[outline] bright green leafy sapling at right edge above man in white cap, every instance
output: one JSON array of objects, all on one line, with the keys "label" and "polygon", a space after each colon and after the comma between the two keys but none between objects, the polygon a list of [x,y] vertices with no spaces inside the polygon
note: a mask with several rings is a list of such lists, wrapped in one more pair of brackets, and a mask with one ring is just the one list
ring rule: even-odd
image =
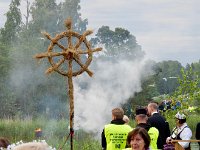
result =
[{"label": "bright green leafy sapling at right edge above man in white cap", "polygon": [[182,68],[181,77],[178,79],[178,81],[180,85],[170,97],[172,100],[172,109],[174,111],[169,110],[168,116],[174,115],[177,111],[181,111],[188,115],[191,111],[191,108],[196,107],[199,109],[199,76],[193,71],[192,67],[190,67],[189,70],[184,70]]}]

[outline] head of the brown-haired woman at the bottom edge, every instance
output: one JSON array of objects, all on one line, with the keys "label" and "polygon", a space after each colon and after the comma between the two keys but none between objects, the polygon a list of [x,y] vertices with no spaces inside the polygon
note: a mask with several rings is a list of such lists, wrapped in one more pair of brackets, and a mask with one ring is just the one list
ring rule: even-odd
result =
[{"label": "head of the brown-haired woman at the bottom edge", "polygon": [[150,137],[144,128],[135,128],[129,132],[127,143],[134,150],[148,149],[150,144]]}]

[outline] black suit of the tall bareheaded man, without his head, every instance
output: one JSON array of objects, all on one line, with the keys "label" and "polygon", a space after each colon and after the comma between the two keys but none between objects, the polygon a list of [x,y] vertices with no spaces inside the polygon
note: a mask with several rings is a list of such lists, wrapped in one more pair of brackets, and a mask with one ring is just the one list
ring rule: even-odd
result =
[{"label": "black suit of the tall bareheaded man, without his head", "polygon": [[149,117],[147,122],[152,127],[158,129],[159,131],[158,142],[157,142],[158,149],[163,149],[163,145],[166,144],[167,137],[170,136],[169,123],[159,113],[154,113],[152,116]]}]

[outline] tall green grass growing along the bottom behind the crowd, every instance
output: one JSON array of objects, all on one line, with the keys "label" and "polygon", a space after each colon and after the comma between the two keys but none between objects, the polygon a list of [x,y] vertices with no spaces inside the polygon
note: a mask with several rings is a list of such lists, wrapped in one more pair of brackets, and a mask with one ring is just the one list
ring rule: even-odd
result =
[{"label": "tall green grass growing along the bottom behind the crowd", "polygon": [[[174,118],[168,120],[170,128],[175,126]],[[196,124],[200,122],[199,115],[190,116],[187,119],[188,126],[193,132],[192,139],[195,139]],[[135,127],[135,121],[131,120],[130,125]],[[0,120],[0,135],[6,137],[11,143],[18,141],[30,142],[36,139],[35,129],[41,128],[43,136],[41,139],[59,149],[63,146],[63,149],[70,149],[70,138],[66,141],[66,137],[69,135],[68,122],[66,120],[47,120],[45,118],[38,118],[36,120],[26,119],[3,119]],[[74,135],[74,150],[99,150],[101,144],[99,140],[95,139],[92,134],[88,134],[83,130],[75,131]]]}]

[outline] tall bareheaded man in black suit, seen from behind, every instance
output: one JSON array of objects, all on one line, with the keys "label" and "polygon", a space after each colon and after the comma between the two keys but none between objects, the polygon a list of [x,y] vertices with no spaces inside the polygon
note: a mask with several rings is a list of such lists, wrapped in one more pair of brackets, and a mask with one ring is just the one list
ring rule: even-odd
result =
[{"label": "tall bareheaded man in black suit, seen from behind", "polygon": [[163,149],[163,146],[166,144],[167,137],[170,136],[169,123],[166,119],[160,115],[158,112],[158,104],[156,102],[150,102],[147,106],[149,118],[147,123],[151,125],[151,127],[155,127],[159,131],[157,146],[158,149]]}]

